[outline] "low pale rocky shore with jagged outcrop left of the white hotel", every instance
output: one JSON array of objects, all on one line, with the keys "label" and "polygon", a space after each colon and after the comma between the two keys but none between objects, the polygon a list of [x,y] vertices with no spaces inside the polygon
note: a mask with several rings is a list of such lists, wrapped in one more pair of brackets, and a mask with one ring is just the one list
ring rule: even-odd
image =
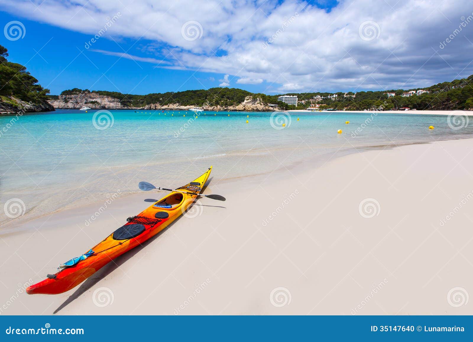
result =
[{"label": "low pale rocky shore with jagged outcrop left of the white hotel", "polygon": [[[151,109],[151,110],[189,110],[195,106],[192,105],[179,105],[179,104],[172,104],[172,105],[160,105],[159,103],[155,103],[152,105],[147,105],[143,109]],[[247,111],[247,112],[273,112],[278,111],[279,109],[271,107],[269,105],[265,105],[260,97],[254,96],[246,96],[245,101],[240,103],[239,105],[228,105],[228,106],[220,106],[220,105],[203,105],[201,109],[208,110],[208,111],[217,111],[217,110],[231,110],[231,111]]]}]

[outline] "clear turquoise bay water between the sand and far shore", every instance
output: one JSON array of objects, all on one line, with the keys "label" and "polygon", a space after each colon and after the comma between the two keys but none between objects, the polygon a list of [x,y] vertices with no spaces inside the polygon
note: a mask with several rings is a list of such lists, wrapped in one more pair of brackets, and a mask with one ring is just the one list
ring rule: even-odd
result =
[{"label": "clear turquoise bay water between the sand and far shore", "polygon": [[[177,187],[210,165],[214,179],[220,180],[293,167],[335,151],[473,136],[473,120],[452,129],[445,115],[324,112],[272,117],[224,111],[193,119],[193,112],[184,117],[184,111],[110,111],[101,113],[102,118],[100,113],[94,118],[95,113],[24,114],[13,123],[15,116],[0,117],[0,200],[2,205],[11,198],[25,203],[26,213],[16,223],[117,191],[138,192],[141,180]],[[343,133],[337,134],[338,129]],[[8,220],[1,215],[0,223]]]}]

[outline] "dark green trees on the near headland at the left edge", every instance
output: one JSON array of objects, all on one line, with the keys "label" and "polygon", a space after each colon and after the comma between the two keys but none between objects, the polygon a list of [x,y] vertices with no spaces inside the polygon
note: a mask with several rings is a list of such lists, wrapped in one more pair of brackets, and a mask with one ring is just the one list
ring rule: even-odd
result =
[{"label": "dark green trees on the near headland at the left edge", "polygon": [[0,45],[0,96],[2,102],[16,105],[10,96],[19,100],[43,104],[48,96],[49,89],[44,89],[38,80],[26,71],[26,67],[18,63],[7,61],[8,51]]}]

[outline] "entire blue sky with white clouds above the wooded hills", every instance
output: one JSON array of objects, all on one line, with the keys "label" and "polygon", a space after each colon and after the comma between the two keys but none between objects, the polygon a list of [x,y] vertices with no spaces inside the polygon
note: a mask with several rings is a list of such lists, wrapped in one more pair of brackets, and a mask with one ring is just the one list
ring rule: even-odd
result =
[{"label": "entire blue sky with white clouds above the wooded hills", "polygon": [[427,87],[473,74],[471,0],[1,0],[0,44],[51,94]]}]

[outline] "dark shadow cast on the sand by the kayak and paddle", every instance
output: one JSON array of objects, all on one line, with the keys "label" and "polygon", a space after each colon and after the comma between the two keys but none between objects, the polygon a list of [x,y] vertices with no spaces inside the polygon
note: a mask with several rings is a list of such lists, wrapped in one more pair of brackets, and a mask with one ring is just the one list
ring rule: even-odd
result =
[{"label": "dark shadow cast on the sand by the kayak and paddle", "polygon": [[[210,179],[207,181],[207,183],[202,188],[205,188],[207,186],[207,184],[209,184],[209,182],[210,182]],[[153,200],[153,199],[146,199],[145,202],[157,202],[157,201]],[[203,204],[194,204],[194,205],[203,205]],[[207,206],[207,205],[205,205],[205,206]],[[221,207],[221,206],[217,206],[217,205],[215,205],[215,206],[212,205],[212,207],[225,208],[226,209],[226,207]],[[53,314],[56,314],[59,311],[61,311],[64,307],[67,307],[75,299],[79,298],[82,294],[84,294],[86,291],[88,291],[94,285],[96,285],[96,283],[98,283],[99,281],[104,279],[107,275],[114,272],[117,268],[119,268],[121,265],[126,263],[128,261],[128,259],[133,257],[135,254],[140,252],[144,247],[148,246],[148,244],[152,243],[155,239],[157,239],[162,234],[164,234],[166,232],[166,230],[171,228],[179,219],[180,218],[176,219],[169,226],[167,226],[166,228],[161,230],[154,237],[151,237],[148,240],[146,240],[140,246],[136,246],[135,248],[131,249],[130,251],[126,252],[125,254],[122,254],[119,257],[117,257],[116,259],[114,259],[111,263],[107,263],[104,267],[102,267],[100,270],[98,270],[93,275],[91,275],[89,278],[87,278],[87,280],[84,281],[79,286],[79,289],[77,289],[73,294],[71,294],[69,296],[69,298],[67,298],[64,303],[62,303],[56,310],[54,310]]]}]

